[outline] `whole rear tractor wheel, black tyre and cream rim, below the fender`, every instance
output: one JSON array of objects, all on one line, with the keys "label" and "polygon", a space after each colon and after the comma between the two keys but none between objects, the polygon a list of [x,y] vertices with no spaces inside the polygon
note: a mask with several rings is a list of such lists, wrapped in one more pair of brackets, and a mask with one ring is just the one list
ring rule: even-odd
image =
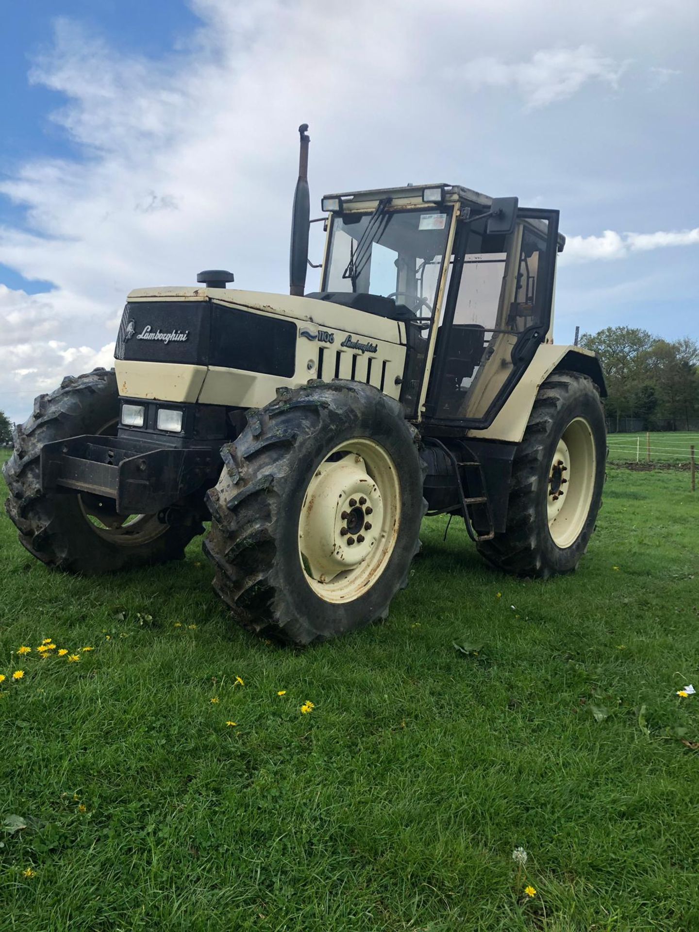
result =
[{"label": "whole rear tractor wheel, black tyre and cream rim, below the fender", "polygon": [[607,433],[592,379],[556,372],[541,386],[514,457],[507,528],[476,546],[517,576],[576,569],[595,529]]}]

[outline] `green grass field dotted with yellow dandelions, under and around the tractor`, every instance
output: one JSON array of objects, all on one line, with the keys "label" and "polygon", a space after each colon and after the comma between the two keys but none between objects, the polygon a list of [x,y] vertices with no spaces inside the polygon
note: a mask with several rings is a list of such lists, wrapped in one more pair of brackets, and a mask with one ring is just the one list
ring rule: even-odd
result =
[{"label": "green grass field dotted with yellow dandelions, under and around the tractor", "polygon": [[[0,832],[0,929],[699,928],[688,489],[610,469],[581,569],[547,583],[433,519],[388,622],[308,651],[229,623],[199,541],[82,580],[3,515],[0,824],[26,828]],[[94,651],[41,660],[46,637]]]}]

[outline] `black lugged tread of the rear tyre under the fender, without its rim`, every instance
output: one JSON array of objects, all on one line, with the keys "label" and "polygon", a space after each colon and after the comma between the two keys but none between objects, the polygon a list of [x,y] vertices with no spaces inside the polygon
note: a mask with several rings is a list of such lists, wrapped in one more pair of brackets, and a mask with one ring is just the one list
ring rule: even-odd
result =
[{"label": "black lugged tread of the rear tyre under the fender, without its rim", "polygon": [[548,534],[548,527],[541,527],[541,521],[537,517],[537,505],[541,477],[548,473],[549,468],[549,463],[543,461],[547,456],[545,440],[551,435],[556,416],[569,402],[573,392],[590,390],[595,392],[601,411],[599,389],[587,376],[576,372],[555,372],[541,385],[524,437],[514,456],[507,528],[504,533],[496,534],[491,541],[476,544],[478,552],[497,569],[516,576],[546,579],[556,572],[575,569],[578,559],[587,549],[596,514],[602,503],[601,487],[596,497],[593,497],[590,507],[588,522],[591,519],[592,527],[576,554],[575,565],[569,569],[552,566],[551,560],[547,559],[545,548],[542,547],[542,535]]}]

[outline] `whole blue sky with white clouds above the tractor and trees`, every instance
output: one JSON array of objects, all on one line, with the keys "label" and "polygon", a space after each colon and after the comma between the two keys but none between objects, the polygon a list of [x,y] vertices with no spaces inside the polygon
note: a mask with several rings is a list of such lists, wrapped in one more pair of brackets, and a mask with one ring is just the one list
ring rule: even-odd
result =
[{"label": "whole blue sky with white clouds above the tractor and trees", "polygon": [[301,122],[311,215],[323,194],[408,182],[557,208],[556,342],[576,325],[699,339],[695,0],[0,0],[0,14],[12,420],[111,364],[132,288],[219,267],[288,291]]}]

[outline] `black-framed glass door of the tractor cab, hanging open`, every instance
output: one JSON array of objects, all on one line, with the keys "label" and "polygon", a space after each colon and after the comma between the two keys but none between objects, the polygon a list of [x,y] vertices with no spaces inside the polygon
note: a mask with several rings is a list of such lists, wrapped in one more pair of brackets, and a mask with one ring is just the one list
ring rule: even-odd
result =
[{"label": "black-framed glass door of the tractor cab, hanging open", "polygon": [[456,241],[425,412],[469,428],[492,423],[549,335],[558,212],[521,208],[507,240],[477,236]]}]

